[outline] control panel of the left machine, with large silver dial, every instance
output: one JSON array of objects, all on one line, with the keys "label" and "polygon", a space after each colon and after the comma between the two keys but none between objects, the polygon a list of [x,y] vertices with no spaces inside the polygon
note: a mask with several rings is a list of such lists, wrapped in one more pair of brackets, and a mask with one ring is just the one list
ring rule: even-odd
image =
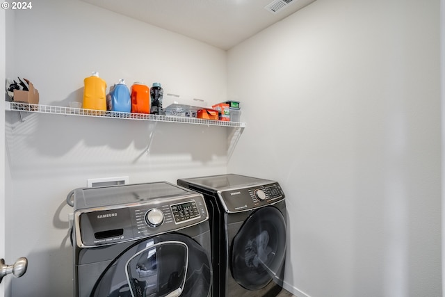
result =
[{"label": "control panel of the left machine, with large silver dial", "polygon": [[95,247],[180,230],[209,219],[200,194],[136,204],[80,209],[74,214],[76,243]]}]

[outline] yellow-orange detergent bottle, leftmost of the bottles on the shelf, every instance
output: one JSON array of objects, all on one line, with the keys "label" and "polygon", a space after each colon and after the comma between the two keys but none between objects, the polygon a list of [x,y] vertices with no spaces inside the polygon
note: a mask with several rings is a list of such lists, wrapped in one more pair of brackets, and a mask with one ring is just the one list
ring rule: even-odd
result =
[{"label": "yellow-orange detergent bottle, leftmost of the bottles on the shelf", "polygon": [[83,80],[83,108],[106,111],[106,82],[99,73],[92,72],[91,77]]}]

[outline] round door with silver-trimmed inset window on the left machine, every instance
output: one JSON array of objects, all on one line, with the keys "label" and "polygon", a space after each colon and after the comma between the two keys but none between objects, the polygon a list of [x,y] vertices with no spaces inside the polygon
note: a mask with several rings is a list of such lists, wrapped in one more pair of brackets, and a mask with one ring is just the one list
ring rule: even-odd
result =
[{"label": "round door with silver-trimmed inset window on the left machine", "polygon": [[187,236],[163,234],[123,251],[91,296],[207,297],[210,289],[211,264],[204,248]]}]

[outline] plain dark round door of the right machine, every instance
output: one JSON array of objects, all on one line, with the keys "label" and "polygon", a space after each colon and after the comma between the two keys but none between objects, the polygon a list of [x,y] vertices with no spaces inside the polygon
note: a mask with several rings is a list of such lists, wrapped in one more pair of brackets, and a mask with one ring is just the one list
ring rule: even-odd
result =
[{"label": "plain dark round door of the right machine", "polygon": [[258,290],[275,278],[286,254],[286,221],[275,207],[255,211],[232,244],[232,276],[249,290]]}]

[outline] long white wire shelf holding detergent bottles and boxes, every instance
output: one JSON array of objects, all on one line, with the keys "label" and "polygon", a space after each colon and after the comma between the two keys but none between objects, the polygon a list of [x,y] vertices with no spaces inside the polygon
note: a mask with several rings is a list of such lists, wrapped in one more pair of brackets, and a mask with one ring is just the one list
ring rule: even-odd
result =
[{"label": "long white wire shelf holding detergent bottles and boxes", "polygon": [[6,111],[26,111],[30,113],[51,113],[56,115],[76,115],[96,118],[116,118],[127,120],[149,120],[155,122],[179,122],[184,124],[210,125],[222,127],[244,128],[245,122],[225,122],[220,120],[204,120],[172,115],[150,115],[146,113],[121,113],[118,111],[96,111],[92,109],[76,109],[74,107],[29,104],[23,102],[5,102]]}]

